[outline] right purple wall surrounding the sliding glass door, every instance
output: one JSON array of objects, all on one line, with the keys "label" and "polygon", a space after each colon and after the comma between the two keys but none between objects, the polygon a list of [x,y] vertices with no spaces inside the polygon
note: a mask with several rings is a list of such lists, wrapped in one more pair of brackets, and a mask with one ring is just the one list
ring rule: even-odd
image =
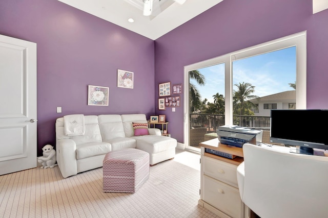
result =
[{"label": "right purple wall surrounding the sliding glass door", "polygon": [[[307,105],[328,109],[327,21],[328,10],[312,14],[311,0],[223,1],[155,40],[155,85],[183,84],[186,65],[306,30]],[[183,142],[183,105],[156,113],[166,114],[172,137]]]}]

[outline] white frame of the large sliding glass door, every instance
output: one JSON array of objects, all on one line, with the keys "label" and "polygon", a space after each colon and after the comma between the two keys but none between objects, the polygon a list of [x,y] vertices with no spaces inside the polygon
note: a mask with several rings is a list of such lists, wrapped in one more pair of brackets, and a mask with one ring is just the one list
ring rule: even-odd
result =
[{"label": "white frame of the large sliding glass door", "polygon": [[[225,125],[233,125],[233,62],[242,60],[257,55],[262,55],[278,50],[287,49],[295,46],[296,51],[296,104],[295,109],[306,109],[306,31],[265,42],[262,44],[254,45],[246,49],[242,49],[236,52],[225,54],[216,58],[198,62],[185,66],[185,93],[184,93],[184,111],[185,111],[185,126],[184,126],[184,137],[185,143],[188,142],[189,138],[189,71],[200,69],[203,67],[209,67],[216,64],[224,63],[224,119]],[[248,81],[246,81],[248,82]],[[296,108],[297,106],[297,108]],[[265,106],[264,106],[265,107]],[[277,108],[277,104],[268,104],[269,107]],[[279,104],[280,107],[280,104]],[[286,105],[287,107],[287,105]],[[288,105],[288,107],[290,107]],[[292,107],[292,106],[291,106]],[[256,109],[256,108],[255,108]],[[269,111],[269,110],[266,110]],[[261,112],[261,110],[259,110]]]}]

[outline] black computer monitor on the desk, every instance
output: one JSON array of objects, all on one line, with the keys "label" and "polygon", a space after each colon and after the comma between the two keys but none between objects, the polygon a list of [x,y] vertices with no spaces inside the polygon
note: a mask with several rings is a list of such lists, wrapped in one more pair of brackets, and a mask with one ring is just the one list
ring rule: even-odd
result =
[{"label": "black computer monitor on the desk", "polygon": [[270,142],[299,146],[299,153],[328,149],[328,110],[271,110]]}]

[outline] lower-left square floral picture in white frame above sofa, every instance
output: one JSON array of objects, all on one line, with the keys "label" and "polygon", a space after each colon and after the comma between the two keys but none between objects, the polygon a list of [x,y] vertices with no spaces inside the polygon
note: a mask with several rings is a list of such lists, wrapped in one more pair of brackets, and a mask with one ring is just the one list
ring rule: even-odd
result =
[{"label": "lower-left square floral picture in white frame above sofa", "polygon": [[108,106],[109,88],[103,86],[88,86],[88,105]]}]

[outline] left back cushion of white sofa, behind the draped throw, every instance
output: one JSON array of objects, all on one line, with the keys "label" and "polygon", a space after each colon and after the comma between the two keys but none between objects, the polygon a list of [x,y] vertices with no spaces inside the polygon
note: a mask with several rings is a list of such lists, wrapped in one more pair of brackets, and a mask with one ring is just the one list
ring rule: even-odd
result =
[{"label": "left back cushion of white sofa, behind the draped throw", "polygon": [[88,142],[101,142],[100,129],[98,125],[98,116],[87,115],[85,116],[85,129],[84,135],[67,136],[64,134],[64,117],[56,119],[56,140],[70,138],[76,144],[84,144]]}]

